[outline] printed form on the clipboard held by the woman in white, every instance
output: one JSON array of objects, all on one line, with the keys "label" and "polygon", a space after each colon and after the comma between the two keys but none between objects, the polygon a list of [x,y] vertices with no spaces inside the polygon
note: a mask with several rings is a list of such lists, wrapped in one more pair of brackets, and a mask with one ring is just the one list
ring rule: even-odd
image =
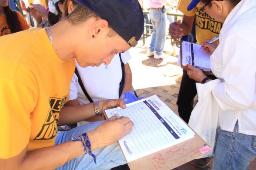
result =
[{"label": "printed form on the clipboard held by the woman in white", "polygon": [[197,66],[202,70],[210,71],[210,54],[200,48],[200,44],[183,41],[182,65],[186,66],[186,64],[190,64],[192,66]]}]

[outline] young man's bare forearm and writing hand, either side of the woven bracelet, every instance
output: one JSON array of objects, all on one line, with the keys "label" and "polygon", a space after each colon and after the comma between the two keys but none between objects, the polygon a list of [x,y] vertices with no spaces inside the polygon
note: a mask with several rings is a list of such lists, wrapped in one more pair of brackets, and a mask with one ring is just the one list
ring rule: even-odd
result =
[{"label": "young man's bare forearm and writing hand, either side of the woven bracelet", "polygon": [[[96,129],[87,132],[92,147],[91,150],[113,144],[129,133],[132,130],[132,126],[133,122],[130,121],[128,117],[121,117],[121,119],[116,120],[113,116],[107,119]],[[68,141],[60,145],[44,147],[32,151],[27,151],[26,146],[22,152],[16,156],[6,159],[0,158],[0,170],[55,169],[82,154],[84,154],[84,149],[80,141]],[[92,158],[88,156],[88,159]]]}]

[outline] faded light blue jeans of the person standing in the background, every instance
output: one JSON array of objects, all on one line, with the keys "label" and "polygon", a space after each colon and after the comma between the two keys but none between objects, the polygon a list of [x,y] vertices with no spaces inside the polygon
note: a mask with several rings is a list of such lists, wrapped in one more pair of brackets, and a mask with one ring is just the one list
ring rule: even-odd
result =
[{"label": "faded light blue jeans of the person standing in the background", "polygon": [[153,34],[150,43],[150,51],[162,55],[166,39],[166,13],[162,10],[149,10],[151,23],[153,24]]}]

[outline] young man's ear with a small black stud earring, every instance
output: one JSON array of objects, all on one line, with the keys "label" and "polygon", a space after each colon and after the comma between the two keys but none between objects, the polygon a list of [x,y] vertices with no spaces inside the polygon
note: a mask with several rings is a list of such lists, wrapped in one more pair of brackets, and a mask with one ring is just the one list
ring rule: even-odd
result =
[{"label": "young man's ear with a small black stud earring", "polygon": [[94,37],[106,32],[108,30],[109,30],[108,21],[100,19],[100,18],[96,19],[95,22],[92,23],[92,25],[90,27],[91,36],[94,35]]}]

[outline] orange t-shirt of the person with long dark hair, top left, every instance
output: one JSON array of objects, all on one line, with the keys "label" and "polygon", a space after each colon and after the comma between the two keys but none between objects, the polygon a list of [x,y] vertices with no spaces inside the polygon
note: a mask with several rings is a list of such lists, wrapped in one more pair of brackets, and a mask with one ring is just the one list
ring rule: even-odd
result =
[{"label": "orange t-shirt of the person with long dark hair, top left", "polygon": [[[18,16],[18,21],[20,22],[20,27],[21,30],[26,30],[30,28],[30,25],[28,25],[27,21],[25,20],[25,18],[20,14],[20,12],[15,11],[17,16]],[[10,34],[11,31],[9,29],[8,23],[6,21],[6,16],[0,16],[0,37],[2,35],[7,35]]]}]

